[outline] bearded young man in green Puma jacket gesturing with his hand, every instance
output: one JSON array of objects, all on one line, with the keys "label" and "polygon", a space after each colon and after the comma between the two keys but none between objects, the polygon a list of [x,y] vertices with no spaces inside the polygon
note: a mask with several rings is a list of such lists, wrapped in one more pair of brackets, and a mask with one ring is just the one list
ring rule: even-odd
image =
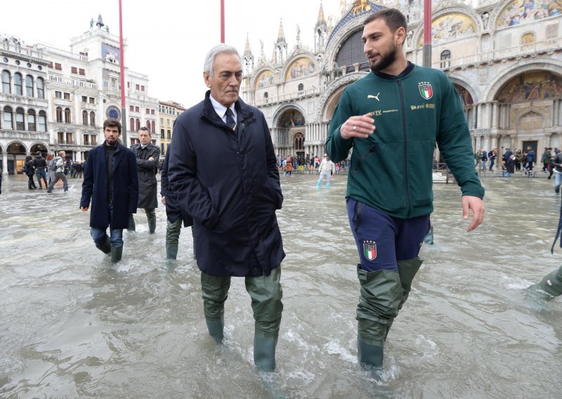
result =
[{"label": "bearded young man in green Puma jacket gesturing with his hand", "polygon": [[326,147],[334,162],[353,148],[346,198],[361,261],[358,360],[378,368],[388,330],[421,266],[417,255],[433,211],[435,144],[462,190],[463,218],[472,211],[466,231],[483,221],[484,189],[454,86],[443,72],[405,58],[404,15],[385,9],[363,26],[372,72],[342,93]]}]

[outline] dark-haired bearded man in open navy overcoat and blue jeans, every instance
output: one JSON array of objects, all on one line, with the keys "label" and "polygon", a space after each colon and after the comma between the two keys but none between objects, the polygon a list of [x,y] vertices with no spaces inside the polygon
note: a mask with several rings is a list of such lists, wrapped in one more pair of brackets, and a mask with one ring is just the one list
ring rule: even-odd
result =
[{"label": "dark-haired bearded man in open navy overcoat and blue jeans", "polygon": [[88,211],[91,200],[93,242],[100,251],[111,253],[115,263],[123,254],[123,229],[129,227],[129,214],[136,213],[138,176],[135,155],[119,143],[121,123],[107,119],[103,122],[103,134],[105,141],[90,151],[86,162],[80,209]]}]

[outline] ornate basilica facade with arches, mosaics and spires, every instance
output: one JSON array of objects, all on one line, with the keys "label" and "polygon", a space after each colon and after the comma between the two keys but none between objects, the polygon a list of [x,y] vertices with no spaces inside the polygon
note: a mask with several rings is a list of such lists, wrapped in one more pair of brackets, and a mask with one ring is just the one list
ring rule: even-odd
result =
[{"label": "ornate basilica facade with arches, mosaics and spires", "polygon": [[[278,155],[325,152],[342,91],[369,72],[361,34],[370,13],[407,15],[406,58],[422,64],[422,4],[342,0],[338,19],[325,18],[320,4],[313,48],[298,33],[289,50],[282,25],[270,58],[262,44],[254,59],[247,42],[242,97],[266,115]],[[562,148],[560,0],[433,1],[431,31],[431,67],[455,85],[475,150]]]}]

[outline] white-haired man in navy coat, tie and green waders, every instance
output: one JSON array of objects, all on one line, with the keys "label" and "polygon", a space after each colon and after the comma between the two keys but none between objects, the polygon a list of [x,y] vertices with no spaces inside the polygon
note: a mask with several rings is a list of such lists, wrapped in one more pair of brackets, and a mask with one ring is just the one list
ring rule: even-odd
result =
[{"label": "white-haired man in navy coat, tie and green waders", "polygon": [[240,55],[219,44],[204,62],[204,100],[174,124],[169,185],[195,224],[197,266],[209,334],[223,339],[230,277],[245,277],[254,310],[254,364],[275,369],[285,257],[275,211],[283,196],[263,114],[239,97]]}]

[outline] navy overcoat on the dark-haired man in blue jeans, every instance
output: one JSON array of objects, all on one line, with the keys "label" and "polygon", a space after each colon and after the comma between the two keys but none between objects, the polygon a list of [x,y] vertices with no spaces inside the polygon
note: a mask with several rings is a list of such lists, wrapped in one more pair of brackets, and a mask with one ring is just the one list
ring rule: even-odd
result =
[{"label": "navy overcoat on the dark-haired man in blue jeans", "polygon": [[121,229],[129,227],[129,214],[136,214],[138,203],[138,175],[135,154],[121,143],[113,155],[113,217],[111,225],[107,209],[107,159],[105,143],[90,151],[80,207],[89,207],[90,227]]}]

